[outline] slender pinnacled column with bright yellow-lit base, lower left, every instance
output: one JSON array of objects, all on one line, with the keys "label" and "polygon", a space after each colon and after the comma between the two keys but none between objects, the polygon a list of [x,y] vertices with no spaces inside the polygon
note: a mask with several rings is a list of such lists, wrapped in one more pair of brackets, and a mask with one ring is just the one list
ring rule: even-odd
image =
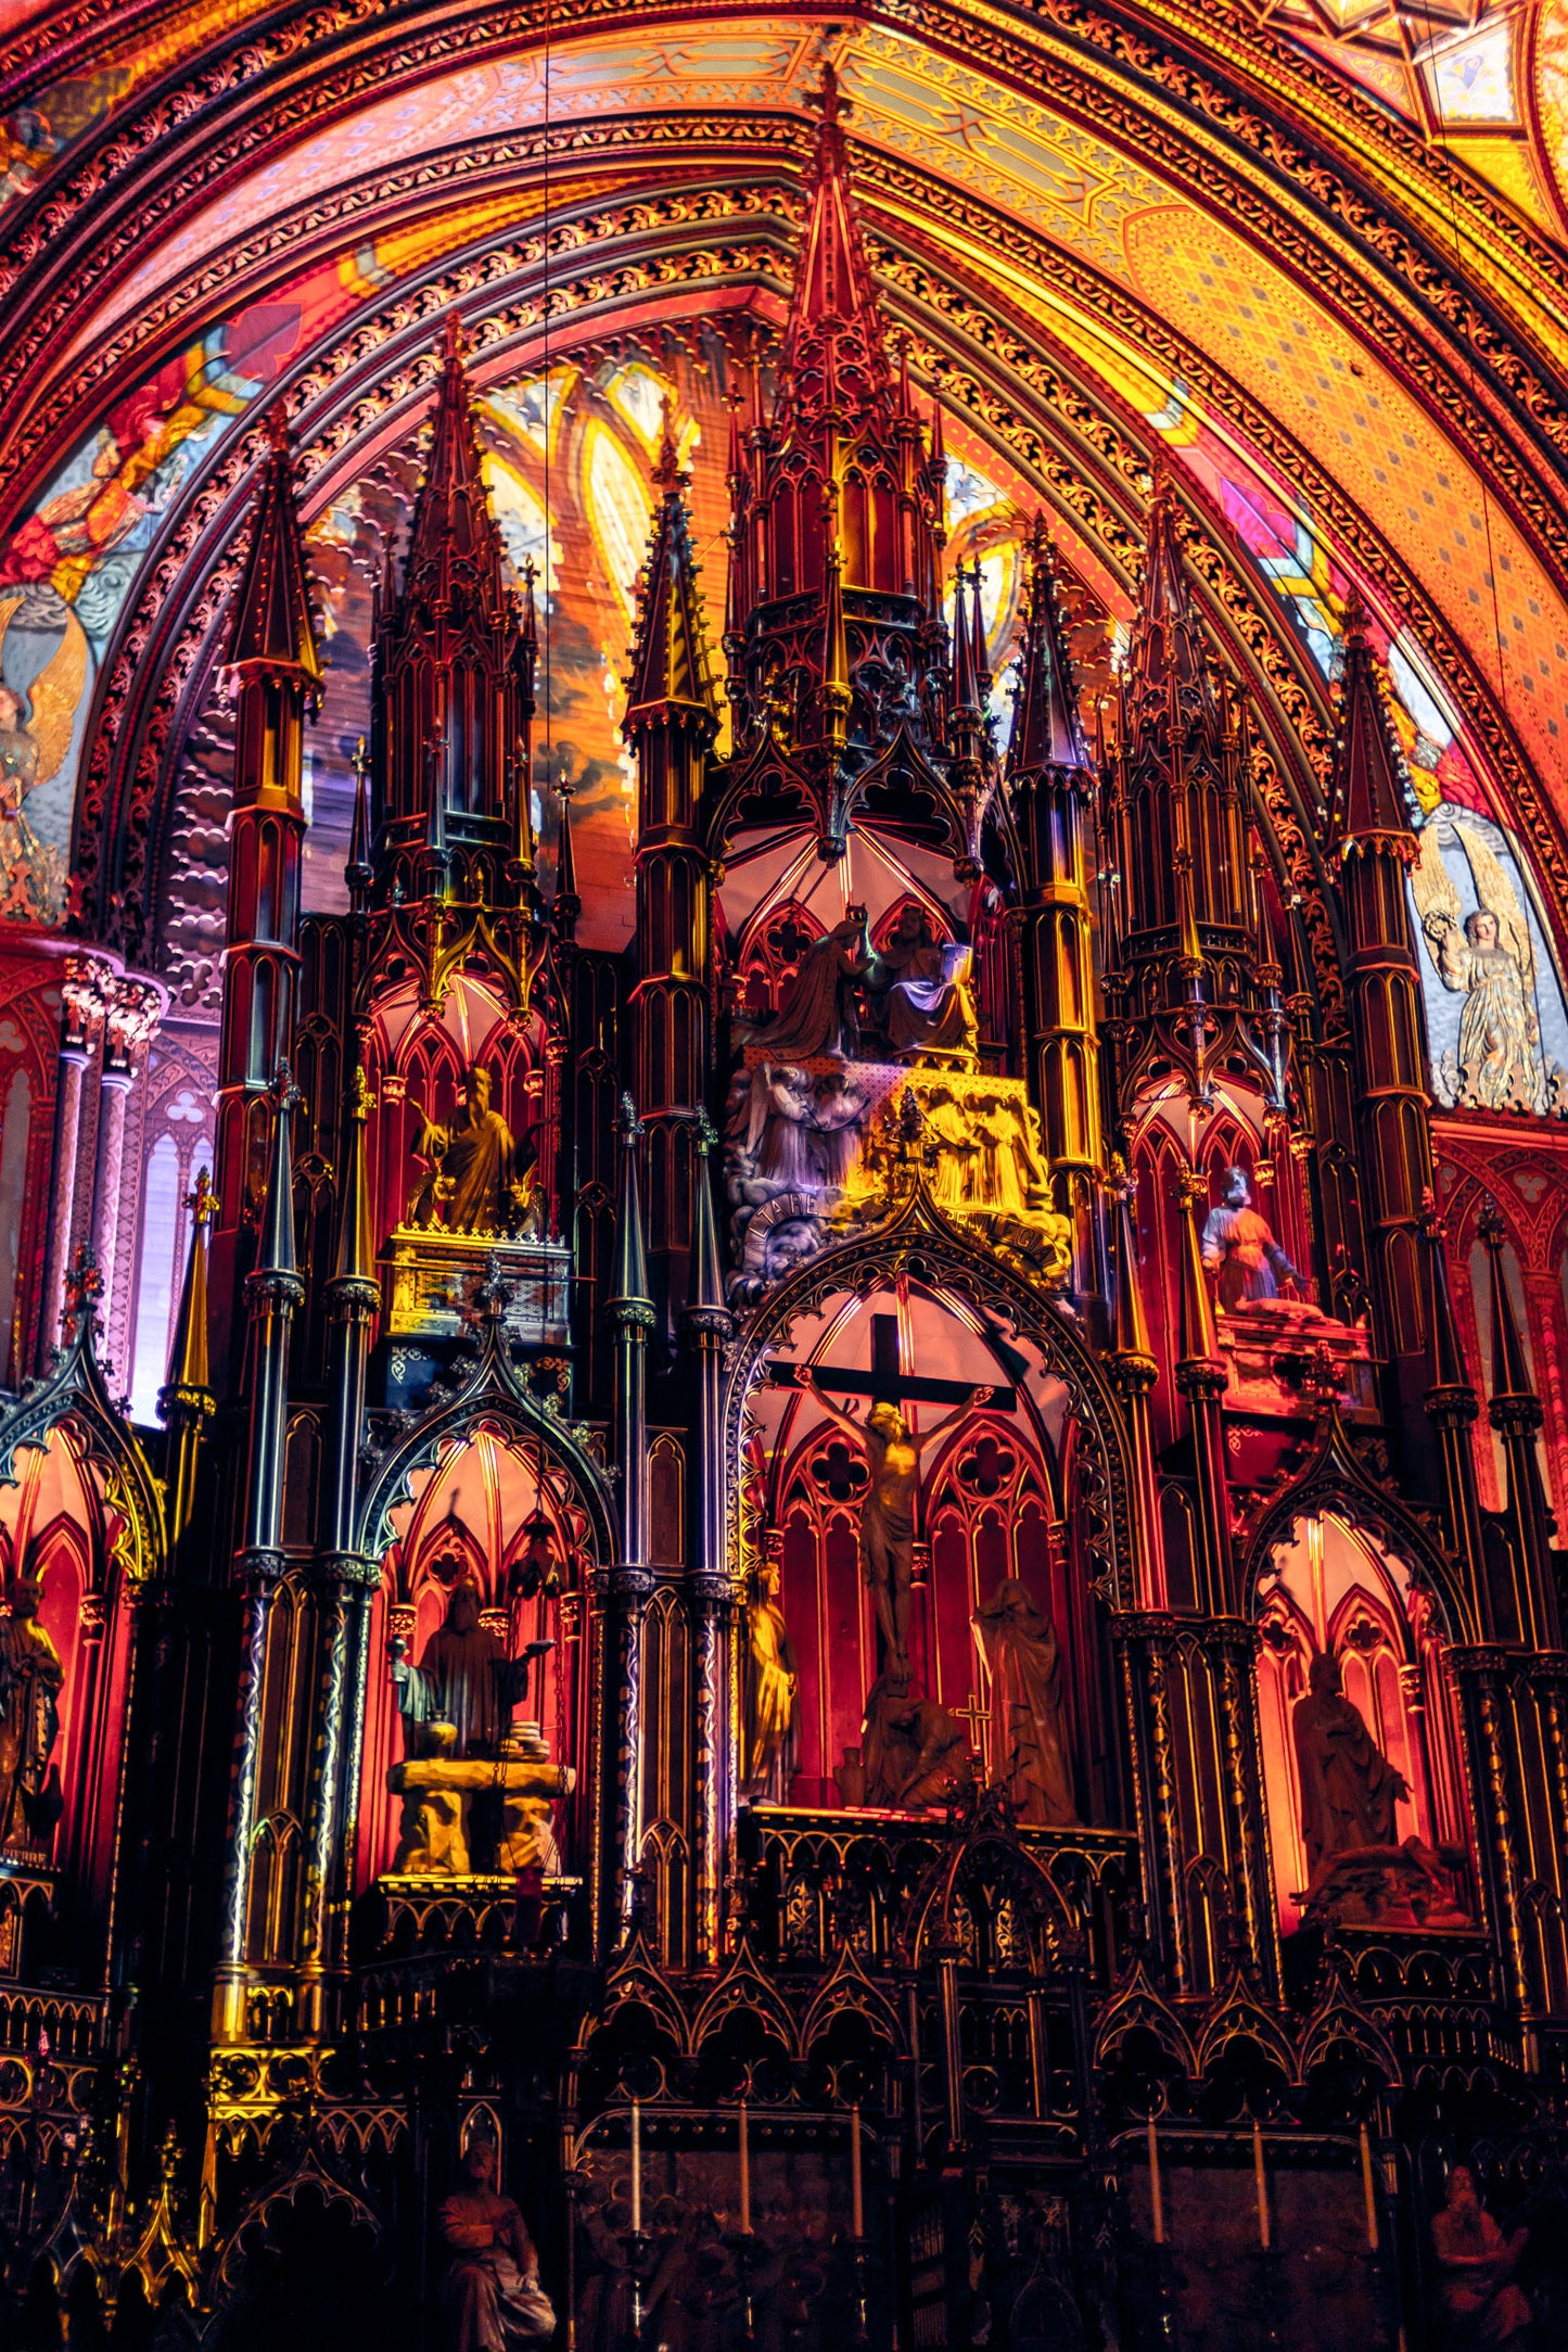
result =
[{"label": "slender pinnacled column with bright yellow-lit base, lower left", "polygon": [[268,1185],[261,1263],[247,1275],[249,1305],[249,1446],[244,1463],[244,1543],[235,1555],[242,1599],[235,1757],[228,1795],[228,1856],[212,2032],[216,2042],[244,2037],[244,1947],[249,1926],[249,1858],[256,1830],[256,1771],[261,1764],[261,1703],[266,1649],[282,1552],[282,1472],[289,1406],[289,1334],[306,1287],[294,1249],[294,1160],[289,1129],[301,1101],[289,1065],[277,1065],[273,1091],[273,1174]]}]

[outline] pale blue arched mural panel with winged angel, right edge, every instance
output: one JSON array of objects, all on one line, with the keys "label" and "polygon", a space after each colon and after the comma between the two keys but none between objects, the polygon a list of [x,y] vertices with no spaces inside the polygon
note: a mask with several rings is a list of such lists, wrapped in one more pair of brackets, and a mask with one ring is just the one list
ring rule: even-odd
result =
[{"label": "pale blue arched mural panel with winged angel, right edge", "polygon": [[1476,809],[1441,802],[1422,826],[1410,889],[1427,943],[1436,1098],[1446,1108],[1561,1108],[1568,1011],[1509,837]]}]

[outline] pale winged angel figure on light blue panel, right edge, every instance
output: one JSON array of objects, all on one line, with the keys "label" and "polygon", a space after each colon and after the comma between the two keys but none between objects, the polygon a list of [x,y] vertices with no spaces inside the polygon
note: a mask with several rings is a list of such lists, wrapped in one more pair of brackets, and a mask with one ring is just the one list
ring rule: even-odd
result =
[{"label": "pale winged angel figure on light blue panel, right edge", "polygon": [[[1460,920],[1460,894],[1443,866],[1439,821],[1465,847],[1476,906]],[[1410,877],[1420,927],[1443,988],[1465,997],[1460,1011],[1460,1101],[1483,1110],[1526,1103],[1544,1108],[1547,1070],[1535,1011],[1535,943],[1519,891],[1479,823],[1439,809],[1420,835]]]}]

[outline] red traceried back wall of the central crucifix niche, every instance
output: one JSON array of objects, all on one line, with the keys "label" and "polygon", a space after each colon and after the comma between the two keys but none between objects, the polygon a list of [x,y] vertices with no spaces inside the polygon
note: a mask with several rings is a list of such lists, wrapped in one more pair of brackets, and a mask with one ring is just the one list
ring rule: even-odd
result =
[{"label": "red traceried back wall of the central crucifix niche", "polygon": [[[802,1385],[806,1374],[811,1388]],[[980,1402],[976,1390],[990,1395]],[[1067,1388],[1030,1341],[912,1277],[830,1296],[799,1317],[750,1399],[748,1536],[762,1571],[778,1569],[799,1672],[792,1733],[755,1795],[797,1806],[856,1802],[844,1766],[860,1748],[886,1637],[860,1566],[870,1451],[846,1421],[865,1423],[879,1404],[903,1414],[919,1454],[912,1696],[969,1726],[983,1780],[1001,1771],[1004,1759],[990,1755],[987,1672],[971,1621],[1018,1578],[1060,1649],[1077,1818],[1112,1818],[1103,1644],[1074,1534]]]}]

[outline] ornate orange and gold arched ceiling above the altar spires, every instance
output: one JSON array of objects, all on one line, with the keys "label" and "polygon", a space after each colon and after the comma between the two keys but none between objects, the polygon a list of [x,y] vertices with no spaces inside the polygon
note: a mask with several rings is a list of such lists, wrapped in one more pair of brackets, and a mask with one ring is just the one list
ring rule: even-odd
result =
[{"label": "ornate orange and gold arched ceiling above the altar spires", "polygon": [[1415,85],[1403,120],[1345,68],[1342,40],[1371,56],[1394,19],[0,7],[0,614],[45,731],[54,713],[40,833],[61,807],[68,830],[75,790],[82,920],[158,953],[186,856],[169,809],[186,790],[188,828],[190,746],[221,720],[247,414],[284,397],[322,524],[411,461],[454,303],[482,388],[588,346],[719,369],[762,348],[825,54],[886,310],[973,463],[1051,510],[1112,619],[1150,468],[1171,468],[1215,637],[1307,830],[1359,586],[1418,790],[1490,807],[1568,901],[1554,5],[1509,19],[1528,200],[1465,160],[1472,134],[1432,136]]}]

